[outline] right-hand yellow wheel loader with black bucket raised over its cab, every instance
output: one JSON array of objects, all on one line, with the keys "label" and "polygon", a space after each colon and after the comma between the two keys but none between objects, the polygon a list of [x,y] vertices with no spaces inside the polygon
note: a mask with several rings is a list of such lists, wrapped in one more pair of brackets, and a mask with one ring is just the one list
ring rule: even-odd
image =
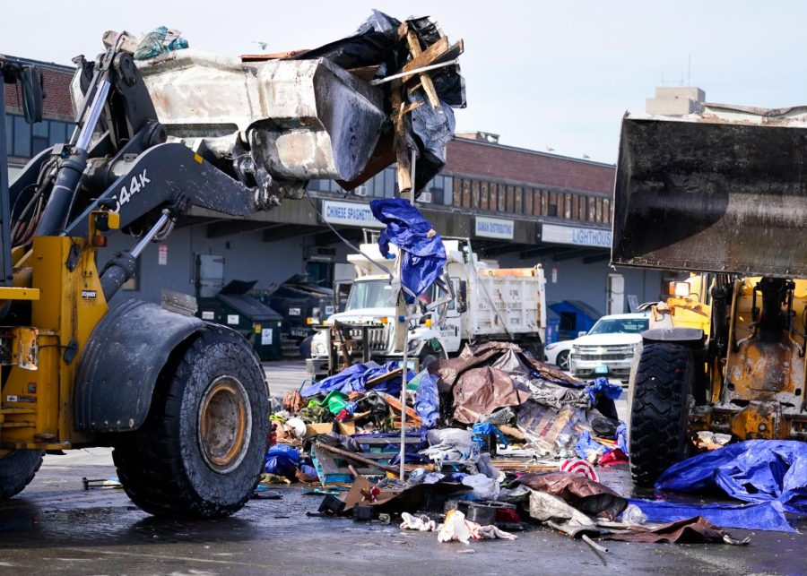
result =
[{"label": "right-hand yellow wheel loader with black bucket raised over its cab", "polygon": [[807,107],[623,118],[612,263],[672,271],[630,377],[634,480],[701,431],[807,440]]}]

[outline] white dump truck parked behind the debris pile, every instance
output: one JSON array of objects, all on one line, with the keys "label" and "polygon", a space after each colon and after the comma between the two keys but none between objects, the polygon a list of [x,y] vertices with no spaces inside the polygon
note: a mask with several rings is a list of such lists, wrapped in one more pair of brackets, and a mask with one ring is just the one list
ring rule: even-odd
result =
[{"label": "white dump truck parked behind the debris pile", "polygon": [[[410,323],[407,354],[421,364],[430,357],[445,358],[456,354],[465,342],[507,340],[532,349],[543,357],[546,331],[544,277],[541,265],[533,268],[499,269],[480,261],[466,240],[444,240],[446,271],[455,298]],[[395,246],[391,246],[393,254]],[[375,244],[362,244],[362,254],[351,254],[348,261],[356,269],[344,312],[330,316],[325,323],[355,324],[351,337],[360,340],[360,325],[377,326],[368,331],[369,357],[376,362],[401,359],[395,350],[395,299],[388,274],[381,273],[368,257],[393,270],[395,260],[385,260]],[[366,257],[366,256],[368,257]],[[445,297],[432,286],[421,297],[424,304]],[[317,331],[311,343],[308,374],[319,377],[328,366],[328,340],[325,331]]]}]

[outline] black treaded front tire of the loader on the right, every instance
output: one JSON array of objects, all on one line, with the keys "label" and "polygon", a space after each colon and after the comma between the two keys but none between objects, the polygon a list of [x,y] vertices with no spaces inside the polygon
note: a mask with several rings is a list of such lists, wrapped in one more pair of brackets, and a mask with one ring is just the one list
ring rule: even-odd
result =
[{"label": "black treaded front tire of the loader on the right", "polygon": [[687,458],[689,398],[694,379],[692,350],[680,344],[648,343],[631,383],[630,475],[638,486]]}]

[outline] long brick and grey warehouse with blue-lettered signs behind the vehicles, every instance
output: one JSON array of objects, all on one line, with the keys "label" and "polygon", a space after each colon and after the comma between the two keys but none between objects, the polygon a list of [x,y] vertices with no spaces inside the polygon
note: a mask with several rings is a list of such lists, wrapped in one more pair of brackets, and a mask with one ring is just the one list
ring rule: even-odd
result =
[{"label": "long brick and grey warehouse with blue-lettered signs behind the vehicles", "polygon": [[[26,125],[18,93],[6,91],[12,175],[73,130],[73,69],[33,64],[45,79],[46,120]],[[419,205],[439,233],[470,237],[486,259],[508,267],[542,263],[549,303],[581,300],[603,314],[617,313],[658,299],[664,277],[608,266],[613,176],[612,165],[505,146],[490,133],[458,134],[448,146],[446,168]],[[202,281],[201,262],[210,256],[221,257],[221,281],[255,279],[259,290],[302,272],[322,284],[349,276],[348,248],[333,228],[352,241],[377,228],[367,202],[395,195],[395,170],[387,168],[352,193],[331,181],[312,181],[308,192],[308,200],[244,219],[192,209],[164,245],[146,249],[138,277],[116,298],[156,301],[161,288],[193,294]],[[133,243],[118,235],[110,245],[124,249]]]}]

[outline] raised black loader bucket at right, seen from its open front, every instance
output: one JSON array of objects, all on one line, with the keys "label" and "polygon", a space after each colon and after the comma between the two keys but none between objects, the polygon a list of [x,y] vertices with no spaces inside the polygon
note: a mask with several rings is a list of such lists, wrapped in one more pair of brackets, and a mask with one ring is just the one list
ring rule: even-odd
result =
[{"label": "raised black loader bucket at right, seen from its open front", "polygon": [[807,107],[626,116],[612,263],[807,277]]}]

